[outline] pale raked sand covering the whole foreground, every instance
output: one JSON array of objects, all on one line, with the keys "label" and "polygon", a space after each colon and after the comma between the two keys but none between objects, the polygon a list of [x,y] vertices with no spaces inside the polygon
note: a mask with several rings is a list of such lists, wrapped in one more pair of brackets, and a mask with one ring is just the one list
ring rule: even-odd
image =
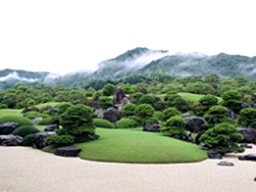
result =
[{"label": "pale raked sand covering the whole foreground", "polygon": [[122,164],[60,157],[38,149],[0,147],[0,192],[255,192],[256,162],[238,155],[187,164]]}]

